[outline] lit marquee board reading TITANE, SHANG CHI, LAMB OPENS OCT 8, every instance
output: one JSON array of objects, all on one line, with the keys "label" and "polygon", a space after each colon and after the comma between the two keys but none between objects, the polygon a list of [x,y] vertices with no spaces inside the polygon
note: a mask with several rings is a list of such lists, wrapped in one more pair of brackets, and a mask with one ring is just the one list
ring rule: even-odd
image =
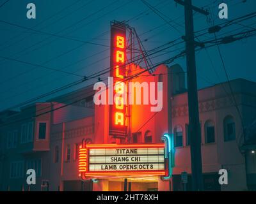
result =
[{"label": "lit marquee board reading TITANE, SHANG CHI, LAMB OPENS OCT 8", "polygon": [[164,143],[86,144],[79,149],[79,175],[82,179],[100,177],[172,176],[173,145],[168,135]]}]

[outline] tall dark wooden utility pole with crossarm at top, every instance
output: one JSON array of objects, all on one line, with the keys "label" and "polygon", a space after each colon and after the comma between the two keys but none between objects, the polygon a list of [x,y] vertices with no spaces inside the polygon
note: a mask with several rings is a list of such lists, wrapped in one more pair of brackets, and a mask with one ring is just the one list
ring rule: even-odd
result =
[{"label": "tall dark wooden utility pole with crossarm at top", "polygon": [[202,155],[201,155],[201,128],[198,112],[198,95],[196,83],[196,59],[195,44],[200,44],[194,39],[193,11],[208,15],[205,10],[192,5],[191,0],[174,0],[176,3],[184,6],[185,10],[185,31],[186,35],[186,64],[188,80],[188,110],[189,110],[189,136],[191,171],[192,171],[192,190],[203,191],[202,178]]}]

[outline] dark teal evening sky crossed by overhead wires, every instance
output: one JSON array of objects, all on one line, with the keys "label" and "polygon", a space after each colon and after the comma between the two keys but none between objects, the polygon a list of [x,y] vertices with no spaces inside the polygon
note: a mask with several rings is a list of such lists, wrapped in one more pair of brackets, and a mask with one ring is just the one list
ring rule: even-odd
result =
[{"label": "dark teal evening sky crossed by overhead wires", "polygon": [[[0,0],[0,5],[5,1]],[[157,10],[164,13],[168,18],[175,19],[172,25],[176,29],[166,24],[163,19],[138,0],[10,0],[0,8],[0,20],[47,33],[108,46],[110,21],[132,19],[128,24],[136,29],[147,50],[175,40],[184,34],[184,8],[182,6],[176,6],[172,0],[148,0],[147,2],[156,6]],[[225,20],[218,18],[218,3],[220,2],[223,1],[193,1],[195,6],[204,6],[204,8],[210,9],[211,12],[211,21],[203,15],[195,14],[195,31],[225,22]],[[255,0],[245,2],[244,0],[227,0],[224,2],[228,4],[228,20],[256,11]],[[28,3],[36,4],[36,19],[26,18],[26,5]],[[168,19],[166,18],[166,20]],[[244,25],[256,28],[256,17],[241,22],[241,24],[243,25],[227,27],[218,35],[223,34],[225,36],[250,29]],[[159,28],[155,29],[157,26]],[[35,33],[3,22],[0,22],[0,36],[0,56],[3,57],[40,64],[76,73],[77,75],[90,75],[109,67],[109,50],[106,50],[108,47],[83,44],[44,33]],[[212,34],[205,34],[200,36],[199,39],[204,41],[213,37]],[[146,39],[147,41],[144,41]],[[230,79],[246,78],[256,82],[255,46],[255,37],[220,46]],[[169,50],[176,50],[177,48],[184,49],[184,43]],[[98,52],[101,53],[90,57]],[[157,63],[178,53],[178,51],[171,52],[156,57],[152,61]],[[209,48],[208,54],[205,50],[196,53],[198,88],[227,80],[217,48]],[[211,64],[210,61],[213,63]],[[177,59],[173,63],[179,63],[186,70],[185,58]],[[80,78],[17,61],[4,60],[0,57],[0,110],[40,96]],[[96,80],[90,80],[66,91],[58,92],[57,95],[94,82]],[[52,96],[41,99],[41,101],[49,98],[52,98]]]}]

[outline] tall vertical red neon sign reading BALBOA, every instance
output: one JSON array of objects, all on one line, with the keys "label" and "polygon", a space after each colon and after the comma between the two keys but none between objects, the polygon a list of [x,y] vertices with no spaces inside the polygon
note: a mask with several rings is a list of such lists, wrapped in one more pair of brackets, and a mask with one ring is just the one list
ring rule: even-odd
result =
[{"label": "tall vertical red neon sign reading BALBOA", "polygon": [[113,105],[109,105],[109,135],[126,136],[125,61],[126,27],[122,24],[111,25],[110,77],[113,77]]}]

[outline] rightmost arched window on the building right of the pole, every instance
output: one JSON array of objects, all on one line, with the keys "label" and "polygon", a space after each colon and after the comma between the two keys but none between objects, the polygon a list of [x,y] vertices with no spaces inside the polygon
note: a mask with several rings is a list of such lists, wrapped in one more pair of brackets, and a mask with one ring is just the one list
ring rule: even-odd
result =
[{"label": "rightmost arched window on the building right of the pole", "polygon": [[223,120],[224,142],[236,140],[236,126],[234,117],[228,115]]}]

